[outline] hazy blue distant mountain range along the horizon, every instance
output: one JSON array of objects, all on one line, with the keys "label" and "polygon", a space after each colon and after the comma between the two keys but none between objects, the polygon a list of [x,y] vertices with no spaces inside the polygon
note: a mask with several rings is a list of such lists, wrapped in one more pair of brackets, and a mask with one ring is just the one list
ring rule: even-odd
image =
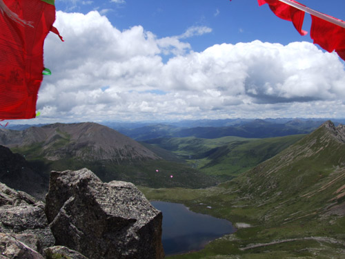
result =
[{"label": "hazy blue distant mountain range along the horizon", "polygon": [[[212,124],[213,122],[213,124]],[[214,139],[226,136],[264,138],[282,137],[287,135],[307,134],[314,131],[324,120],[264,120],[264,119],[233,119],[206,120],[180,124],[148,124],[144,126],[124,127],[109,124],[110,127],[131,137],[145,141],[167,137],[197,137]]]}]

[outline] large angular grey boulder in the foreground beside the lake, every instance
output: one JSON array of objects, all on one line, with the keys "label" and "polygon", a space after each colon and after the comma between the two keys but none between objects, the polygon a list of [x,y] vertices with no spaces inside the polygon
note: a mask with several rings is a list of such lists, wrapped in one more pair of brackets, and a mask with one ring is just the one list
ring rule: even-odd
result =
[{"label": "large angular grey boulder in the foreground beside the lake", "polygon": [[46,215],[56,244],[90,259],[164,258],[162,213],[134,184],[103,183],[88,169],[53,171]]}]

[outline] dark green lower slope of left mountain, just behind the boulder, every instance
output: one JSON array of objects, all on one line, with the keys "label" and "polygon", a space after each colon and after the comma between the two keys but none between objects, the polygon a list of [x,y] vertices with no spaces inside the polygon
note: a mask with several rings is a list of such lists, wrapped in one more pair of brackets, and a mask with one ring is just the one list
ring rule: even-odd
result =
[{"label": "dark green lower slope of left mountain, just behind the boulder", "polygon": [[[13,148],[14,152],[26,154],[21,148]],[[190,168],[188,164],[166,160],[143,160],[137,162],[121,162],[110,160],[86,161],[75,158],[46,160],[42,157],[26,157],[32,169],[48,175],[50,171],[79,170],[88,168],[103,182],[121,180],[133,184],[160,187],[205,188],[217,184],[217,179]],[[158,172],[157,172],[158,170]],[[172,175],[172,178],[170,177]],[[47,190],[48,191],[48,190]]]}]

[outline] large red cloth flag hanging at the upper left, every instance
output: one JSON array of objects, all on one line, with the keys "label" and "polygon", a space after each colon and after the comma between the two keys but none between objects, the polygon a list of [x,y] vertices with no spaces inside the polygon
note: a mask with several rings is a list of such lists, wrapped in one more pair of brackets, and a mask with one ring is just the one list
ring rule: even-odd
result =
[{"label": "large red cloth flag hanging at the upper left", "polygon": [[43,43],[55,21],[55,6],[48,0],[2,2],[29,25],[0,10],[0,119],[31,119],[36,116]]}]

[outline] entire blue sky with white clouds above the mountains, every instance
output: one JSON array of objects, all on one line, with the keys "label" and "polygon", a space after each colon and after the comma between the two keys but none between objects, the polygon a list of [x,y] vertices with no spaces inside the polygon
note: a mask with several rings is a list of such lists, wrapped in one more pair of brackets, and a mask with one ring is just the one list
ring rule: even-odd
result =
[{"label": "entire blue sky with white clouds above the mountains", "polygon": [[[344,0],[300,2],[345,20]],[[344,61],[257,0],[55,5],[30,123],[345,117]]]}]

